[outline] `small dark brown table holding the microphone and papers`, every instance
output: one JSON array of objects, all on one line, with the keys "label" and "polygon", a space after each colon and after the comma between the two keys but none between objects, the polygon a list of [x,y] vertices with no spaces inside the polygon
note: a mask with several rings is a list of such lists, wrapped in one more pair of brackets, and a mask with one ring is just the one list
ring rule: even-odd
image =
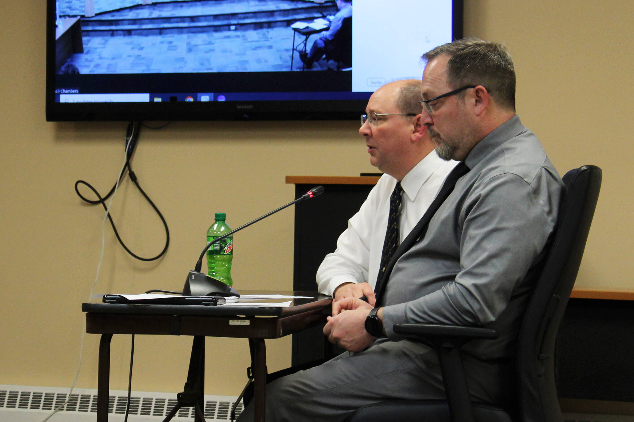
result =
[{"label": "small dark brown table holding the microphone and papers", "polygon": [[[280,338],[325,321],[332,299],[316,292],[242,292],[309,296],[289,307],[126,305],[84,303],[86,332],[101,334],[97,389],[97,421],[108,421],[110,340],[114,334],[191,335],[190,371],[179,404],[196,408],[195,420],[204,421],[204,338],[249,338],[254,378],[255,420],[264,421],[266,385],[265,338]],[[176,412],[174,412],[175,414]]]}]

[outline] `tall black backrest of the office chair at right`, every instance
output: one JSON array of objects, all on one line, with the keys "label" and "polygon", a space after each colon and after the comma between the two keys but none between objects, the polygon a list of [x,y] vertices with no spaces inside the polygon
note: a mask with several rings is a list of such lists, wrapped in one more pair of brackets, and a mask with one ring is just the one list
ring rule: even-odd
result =
[{"label": "tall black backrest of the office chair at right", "polygon": [[579,271],[601,178],[597,166],[582,166],[563,177],[566,193],[557,228],[519,333],[518,411],[522,422],[562,420],[555,388],[555,339]]}]

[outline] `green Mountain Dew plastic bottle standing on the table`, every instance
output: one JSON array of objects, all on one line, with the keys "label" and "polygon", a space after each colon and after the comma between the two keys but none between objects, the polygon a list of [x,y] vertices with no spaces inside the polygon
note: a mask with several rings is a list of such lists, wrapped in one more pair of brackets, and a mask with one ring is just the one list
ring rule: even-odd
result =
[{"label": "green Mountain Dew plastic bottle standing on the table", "polygon": [[[225,213],[216,213],[216,222],[207,230],[208,245],[217,237],[231,232],[231,227],[224,222],[225,219]],[[233,235],[214,243],[207,251],[207,275],[232,286],[231,259],[233,259]]]}]

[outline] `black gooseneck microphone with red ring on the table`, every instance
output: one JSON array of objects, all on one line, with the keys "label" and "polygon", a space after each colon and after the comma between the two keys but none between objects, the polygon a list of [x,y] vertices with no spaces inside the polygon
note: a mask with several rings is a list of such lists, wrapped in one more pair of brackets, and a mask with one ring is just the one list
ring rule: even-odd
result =
[{"label": "black gooseneck microphone with red ring on the table", "polygon": [[201,252],[200,258],[198,258],[198,261],[196,263],[194,270],[190,271],[190,273],[187,275],[187,280],[185,281],[185,285],[183,287],[183,295],[184,296],[218,295],[218,296],[238,296],[239,297],[240,295],[238,294],[238,292],[236,292],[234,289],[232,289],[225,283],[221,282],[217,278],[211,277],[205,273],[200,272],[200,269],[202,268],[202,260],[203,258],[205,258],[205,253],[207,253],[207,250],[209,250],[209,248],[214,243],[220,242],[221,240],[226,239],[226,237],[232,235],[233,233],[239,232],[243,228],[249,227],[250,225],[257,223],[258,221],[264,218],[267,218],[268,216],[273,215],[284,208],[290,207],[291,205],[296,204],[297,202],[314,198],[317,195],[322,194],[323,190],[324,190],[323,186],[314,187],[313,189],[306,192],[306,194],[295,199],[295,201],[288,202],[288,204],[283,205],[280,208],[271,211],[270,213],[264,214],[263,216],[256,218],[256,220],[250,221],[249,223],[242,225],[236,228],[235,230],[231,230],[231,232],[229,233],[225,233],[222,236],[216,237],[216,239],[212,240],[212,242],[209,242],[209,244],[207,244],[205,249],[203,249],[203,251]]}]

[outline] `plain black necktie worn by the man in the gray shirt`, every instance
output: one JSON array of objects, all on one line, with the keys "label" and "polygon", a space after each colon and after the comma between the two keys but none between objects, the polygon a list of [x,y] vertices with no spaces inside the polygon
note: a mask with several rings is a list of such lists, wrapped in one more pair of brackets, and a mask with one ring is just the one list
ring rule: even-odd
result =
[{"label": "plain black necktie worn by the man in the gray shirt", "polygon": [[405,252],[407,252],[418,239],[422,239],[425,237],[425,233],[427,233],[427,227],[429,227],[429,221],[432,219],[438,208],[443,204],[444,200],[453,192],[453,188],[458,182],[458,179],[463,177],[465,174],[469,172],[469,167],[467,164],[462,161],[456,165],[451,173],[444,180],[443,187],[439,190],[436,198],[430,204],[425,214],[418,220],[418,223],[411,230],[410,234],[407,235],[405,239],[403,239],[403,243],[398,247],[394,255],[392,256],[391,261],[387,264],[385,271],[380,271],[380,280],[377,280],[377,288],[374,289],[375,294],[377,296],[377,302],[375,306],[380,306],[380,302],[383,299],[383,294],[385,292],[385,285],[387,284],[387,279],[392,272],[392,268],[394,268],[394,263],[401,258]]}]

